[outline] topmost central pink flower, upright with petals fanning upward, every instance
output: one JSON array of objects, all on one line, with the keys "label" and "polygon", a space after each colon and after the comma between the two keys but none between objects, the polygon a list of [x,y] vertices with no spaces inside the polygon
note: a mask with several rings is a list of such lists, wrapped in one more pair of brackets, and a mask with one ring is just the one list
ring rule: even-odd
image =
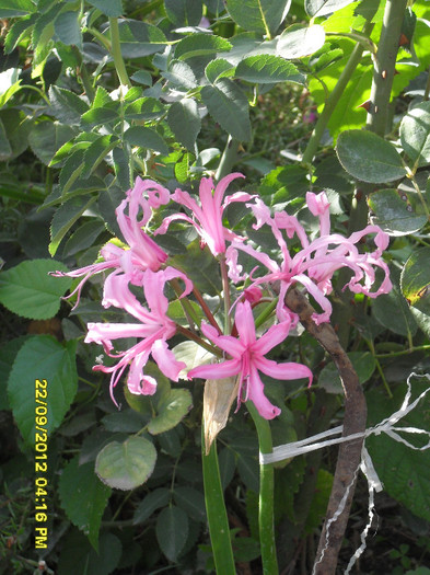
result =
[{"label": "topmost central pink flower, upright with petals fanning upward", "polygon": [[254,197],[245,192],[237,192],[236,194],[229,196],[222,204],[228,185],[236,177],[244,177],[244,175],[240,173],[226,175],[216,187],[213,186],[211,177],[202,177],[199,188],[200,206],[188,194],[188,192],[183,192],[177,188],[173,194],[172,199],[181,206],[190,209],[193,218],[185,214],[174,214],[164,219],[163,223],[155,231],[155,234],[165,233],[172,221],[185,220],[196,228],[202,243],[209,246],[209,250],[213,255],[217,256],[224,253],[225,240],[231,241],[239,238],[235,233],[222,226],[222,214],[224,209],[232,202],[248,202]]}]

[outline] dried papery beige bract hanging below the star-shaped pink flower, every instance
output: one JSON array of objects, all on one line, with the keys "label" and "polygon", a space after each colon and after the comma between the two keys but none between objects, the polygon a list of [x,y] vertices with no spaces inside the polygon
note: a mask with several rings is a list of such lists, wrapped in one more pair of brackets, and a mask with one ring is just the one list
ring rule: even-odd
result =
[{"label": "dried papery beige bract hanging below the star-shaped pink flower", "polygon": [[217,435],[229,419],[233,401],[237,398],[239,378],[207,379],[204,393],[205,452],[208,456]]}]

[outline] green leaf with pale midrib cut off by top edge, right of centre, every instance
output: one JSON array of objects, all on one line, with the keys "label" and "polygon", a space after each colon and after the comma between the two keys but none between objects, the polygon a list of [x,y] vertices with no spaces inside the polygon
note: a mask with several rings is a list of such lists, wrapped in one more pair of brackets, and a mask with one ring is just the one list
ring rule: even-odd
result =
[{"label": "green leaf with pale midrib cut off by top edge, right of centre", "polygon": [[226,9],[240,26],[274,35],[282,24],[291,0],[226,0]]}]

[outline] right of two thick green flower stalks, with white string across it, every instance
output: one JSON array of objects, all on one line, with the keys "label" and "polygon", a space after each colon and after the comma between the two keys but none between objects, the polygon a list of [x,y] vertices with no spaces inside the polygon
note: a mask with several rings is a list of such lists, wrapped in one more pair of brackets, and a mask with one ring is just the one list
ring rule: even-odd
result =
[{"label": "right of two thick green flower stalks, with white string across it", "polygon": [[[274,446],[269,422],[259,415],[251,400],[246,402],[246,407],[257,429],[260,452],[271,453]],[[258,528],[263,574],[278,575],[274,521],[274,467],[264,463],[259,465]]]}]

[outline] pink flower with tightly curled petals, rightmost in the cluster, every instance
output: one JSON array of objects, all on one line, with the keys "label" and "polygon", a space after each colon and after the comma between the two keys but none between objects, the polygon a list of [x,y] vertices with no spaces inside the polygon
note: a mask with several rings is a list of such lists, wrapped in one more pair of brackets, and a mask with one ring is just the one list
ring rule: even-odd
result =
[{"label": "pink flower with tightly curled petals, rightmost in the cluster", "polygon": [[[333,290],[332,278],[334,273],[341,267],[349,267],[352,271],[352,277],[344,286],[344,289],[349,287],[355,294],[365,294],[371,298],[387,294],[392,289],[392,283],[388,266],[382,260],[382,252],[387,248],[390,237],[377,226],[367,226],[349,238],[344,238],[338,233],[330,234],[329,203],[326,194],[322,192],[316,195],[309,192],[306,203],[310,211],[319,218],[319,238],[313,241],[310,241],[304,228],[295,217],[286,212],[276,212],[271,217],[269,208],[260,199],[256,199],[255,205],[251,205],[257,220],[254,228],[259,229],[264,225],[271,228],[281,251],[282,262],[278,264],[267,254],[258,252],[248,244],[233,242],[226,252],[230,277],[234,281],[244,279],[244,276],[241,275],[242,267],[237,264],[236,250],[252,255],[264,264],[269,269],[269,274],[254,280],[253,285],[280,280],[277,306],[279,321],[284,321],[287,318],[292,321],[298,320],[295,314],[288,310],[283,303],[287,290],[295,283],[302,284],[323,310],[322,313],[314,314],[315,323],[329,321],[332,304],[326,296]],[[291,255],[288,250],[282,230],[290,239],[297,234],[302,244],[302,250],[294,255]],[[374,244],[376,249],[373,252],[360,253],[357,243],[369,233],[375,234]],[[371,291],[375,281],[375,268],[377,267],[383,271],[384,278],[380,287],[375,291]]]}]

